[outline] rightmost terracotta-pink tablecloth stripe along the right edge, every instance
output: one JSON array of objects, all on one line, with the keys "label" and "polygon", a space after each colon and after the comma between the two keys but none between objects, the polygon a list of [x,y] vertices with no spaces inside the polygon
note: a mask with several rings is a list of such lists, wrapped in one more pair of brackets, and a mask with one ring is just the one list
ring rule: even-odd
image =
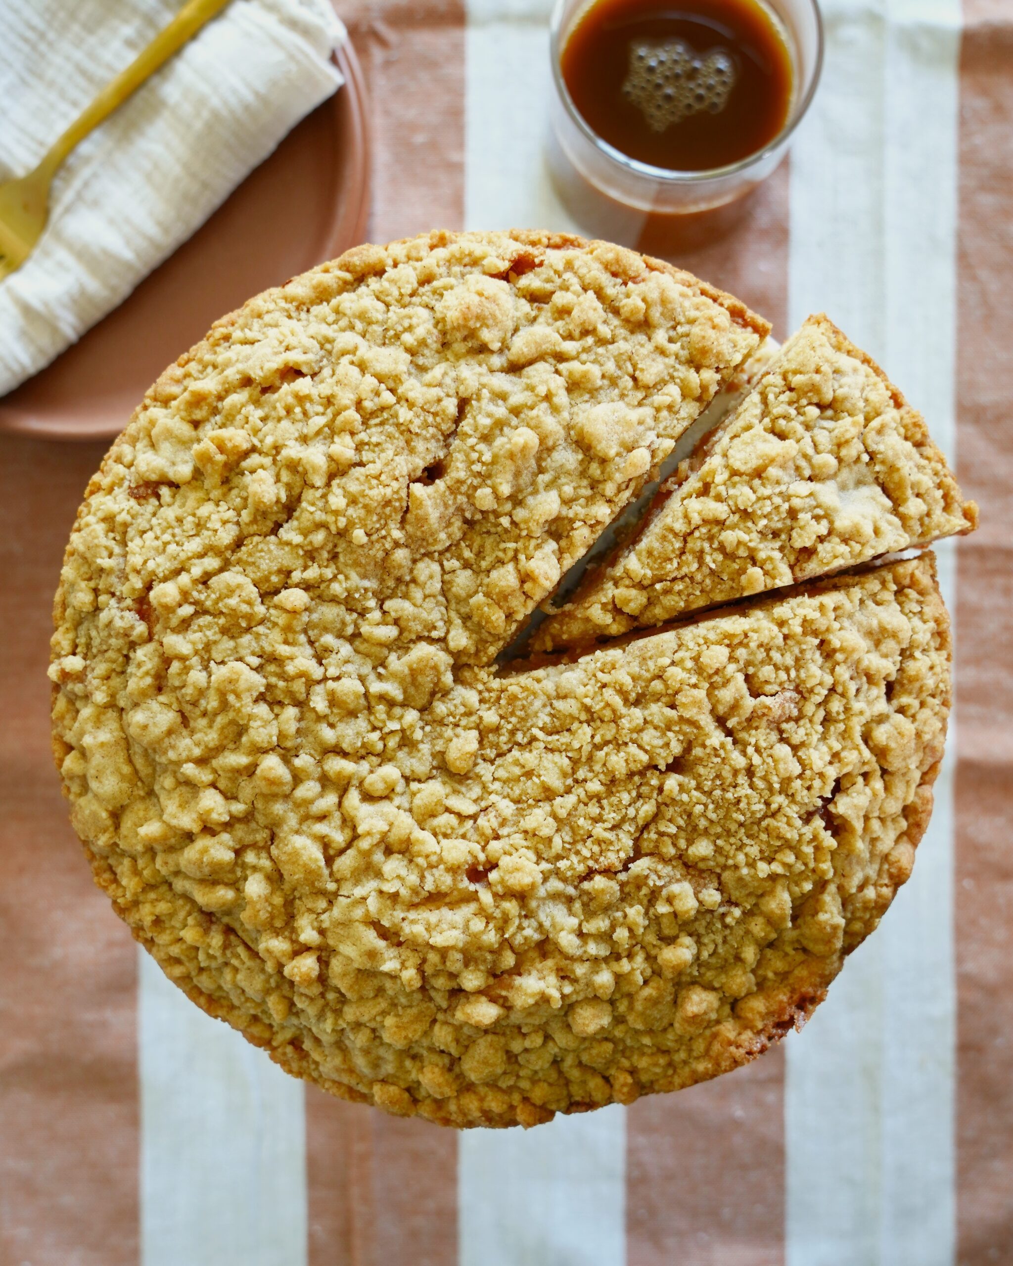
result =
[{"label": "rightmost terracotta-pink tablecloth stripe along the right edge", "polygon": [[967,0],[961,58],[956,637],[960,1266],[1013,1261],[1013,10]]}]

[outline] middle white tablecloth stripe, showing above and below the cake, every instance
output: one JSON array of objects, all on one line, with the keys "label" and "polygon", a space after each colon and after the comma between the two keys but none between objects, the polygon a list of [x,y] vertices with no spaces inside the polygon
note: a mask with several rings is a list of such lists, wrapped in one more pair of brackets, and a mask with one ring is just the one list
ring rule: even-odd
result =
[{"label": "middle white tablecloth stripe, showing above and below the cake", "polygon": [[[465,222],[575,228],[542,160],[550,0],[470,0]],[[623,1266],[626,1110],[472,1129],[458,1144],[461,1266]]]}]

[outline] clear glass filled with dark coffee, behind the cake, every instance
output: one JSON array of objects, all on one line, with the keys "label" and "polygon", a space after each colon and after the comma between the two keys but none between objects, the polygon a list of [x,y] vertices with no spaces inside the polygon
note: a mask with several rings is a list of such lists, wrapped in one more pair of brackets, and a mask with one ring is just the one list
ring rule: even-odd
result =
[{"label": "clear glass filled with dark coffee, behind the cake", "polygon": [[628,237],[645,213],[710,211],[770,176],[823,25],[817,0],[557,0],[551,56],[553,180],[579,220]]}]

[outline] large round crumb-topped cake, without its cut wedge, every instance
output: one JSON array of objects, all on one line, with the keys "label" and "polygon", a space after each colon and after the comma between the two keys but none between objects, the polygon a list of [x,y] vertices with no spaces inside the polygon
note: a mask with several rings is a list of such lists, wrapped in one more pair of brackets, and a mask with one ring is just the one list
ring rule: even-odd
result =
[{"label": "large round crumb-topped cake, without its cut wedge", "polygon": [[931,557],[493,662],[766,333],[619,247],[438,233],[151,389],[67,547],[54,751],[195,1003],[461,1127],[689,1085],[819,1001],[928,819]]}]

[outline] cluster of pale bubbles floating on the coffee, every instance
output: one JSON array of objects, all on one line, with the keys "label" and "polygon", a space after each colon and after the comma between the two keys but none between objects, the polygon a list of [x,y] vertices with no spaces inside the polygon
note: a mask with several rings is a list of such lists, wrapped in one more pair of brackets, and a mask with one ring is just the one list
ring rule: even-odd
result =
[{"label": "cluster of pale bubbles floating on the coffee", "polygon": [[702,110],[719,114],[734,82],[734,62],[723,48],[700,54],[683,39],[636,39],[623,96],[652,132],[664,132]]}]

